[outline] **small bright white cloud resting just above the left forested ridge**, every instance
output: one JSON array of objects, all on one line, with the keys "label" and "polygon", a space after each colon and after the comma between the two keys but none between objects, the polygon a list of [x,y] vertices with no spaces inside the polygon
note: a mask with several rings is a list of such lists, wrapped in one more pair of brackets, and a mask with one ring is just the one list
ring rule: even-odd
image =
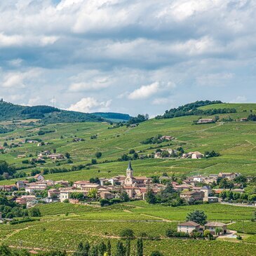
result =
[{"label": "small bright white cloud resting just above the left forested ridge", "polygon": [[94,97],[83,97],[79,102],[71,105],[67,110],[77,112],[102,112],[107,111],[111,105],[112,100],[106,102],[99,102]]}]

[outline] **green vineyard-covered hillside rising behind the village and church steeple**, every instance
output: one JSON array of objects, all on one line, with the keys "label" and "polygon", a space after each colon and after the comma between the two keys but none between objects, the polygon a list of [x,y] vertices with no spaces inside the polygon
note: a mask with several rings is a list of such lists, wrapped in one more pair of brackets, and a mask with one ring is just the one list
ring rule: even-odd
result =
[{"label": "green vineyard-covered hillside rising behind the village and church steeple", "polygon": [[[228,105],[222,105],[227,107]],[[30,140],[43,140],[50,144],[37,147],[36,144],[20,144],[20,147],[6,148],[6,154],[1,159],[6,160],[15,168],[25,168],[18,172],[31,173],[32,170],[44,170],[46,168],[67,168],[86,165],[95,159],[97,151],[102,152],[102,157],[97,159],[97,164],[76,170],[73,172],[53,173],[46,177],[53,180],[81,180],[90,177],[112,177],[124,173],[126,161],[118,161],[123,154],[128,154],[130,149],[138,151],[141,157],[153,154],[159,148],[177,149],[182,147],[189,151],[217,151],[219,157],[210,159],[138,159],[133,161],[136,175],[161,175],[163,172],[171,175],[210,174],[236,171],[245,175],[255,175],[256,170],[256,123],[252,121],[239,122],[236,119],[247,117],[248,106],[232,105],[238,109],[236,113],[219,114],[220,121],[203,125],[194,125],[193,121],[198,116],[182,116],[173,119],[150,119],[140,123],[135,128],[121,126],[113,128],[109,123],[58,123],[40,126],[20,126],[11,133],[1,135],[0,144],[7,142],[18,144],[25,138]],[[209,107],[209,106],[208,106]],[[250,105],[250,109],[256,109],[256,105]],[[249,111],[250,111],[249,109]],[[247,112],[244,112],[244,111]],[[221,121],[230,116],[233,121]],[[210,117],[210,116],[209,116]],[[46,131],[38,135],[39,130]],[[50,131],[50,133],[47,133]],[[156,135],[171,135],[175,140],[160,144],[142,144],[149,137]],[[92,139],[93,135],[97,135]],[[74,137],[83,138],[82,142],[73,142]],[[10,140],[13,138],[13,140]],[[6,141],[7,140],[7,141]],[[22,163],[32,159],[40,151],[56,149],[58,153],[71,154],[72,163],[63,161],[54,163],[46,161],[35,167]],[[19,154],[29,156],[18,159]],[[128,154],[132,157],[133,154]],[[13,180],[1,181],[2,184],[11,183]]]}]

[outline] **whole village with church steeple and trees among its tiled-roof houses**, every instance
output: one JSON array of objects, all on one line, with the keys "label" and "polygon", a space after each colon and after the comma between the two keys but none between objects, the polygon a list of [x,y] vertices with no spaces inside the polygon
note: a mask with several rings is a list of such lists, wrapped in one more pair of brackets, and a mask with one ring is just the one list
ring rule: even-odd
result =
[{"label": "whole village with church steeple and trees among its tiled-roof houses", "polygon": [[[123,192],[126,193],[129,200],[147,200],[149,191],[157,195],[167,186],[171,186],[184,203],[218,203],[223,200],[224,191],[240,195],[245,194],[243,184],[239,182],[234,183],[234,187],[230,189],[212,188],[217,183],[232,182],[239,176],[239,173],[219,173],[206,177],[194,175],[177,182],[173,181],[173,177],[164,174],[156,180],[154,177],[135,176],[131,161],[129,161],[126,175],[97,178],[93,182],[92,180],[68,182],[65,180],[45,180],[43,175],[39,173],[32,177],[32,182],[20,180],[13,185],[1,185],[0,189],[1,191],[13,192],[16,203],[26,205],[27,208],[35,206],[39,202],[92,203],[100,201],[100,199],[105,200],[105,204],[108,205],[108,201],[120,198]],[[20,196],[18,196],[17,191],[20,192]],[[119,201],[116,200],[116,202]]]}]

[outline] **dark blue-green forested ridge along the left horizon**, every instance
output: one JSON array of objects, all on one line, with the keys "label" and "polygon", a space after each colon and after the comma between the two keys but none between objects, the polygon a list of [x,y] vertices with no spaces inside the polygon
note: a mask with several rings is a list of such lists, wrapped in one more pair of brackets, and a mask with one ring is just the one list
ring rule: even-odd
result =
[{"label": "dark blue-green forested ridge along the left horizon", "polygon": [[96,113],[88,114],[58,109],[50,106],[21,106],[8,102],[0,102],[0,121],[40,119],[41,123],[69,123],[105,120],[126,120],[127,114]]}]

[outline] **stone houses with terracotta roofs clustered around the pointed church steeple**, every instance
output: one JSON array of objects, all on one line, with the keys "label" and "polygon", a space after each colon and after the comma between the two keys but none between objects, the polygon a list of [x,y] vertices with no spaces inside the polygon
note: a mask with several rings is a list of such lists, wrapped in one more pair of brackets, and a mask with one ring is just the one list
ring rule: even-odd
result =
[{"label": "stone houses with terracotta roofs clustered around the pointed church steeple", "polygon": [[[129,161],[126,175],[117,175],[111,178],[100,178],[98,183],[91,183],[88,180],[76,181],[72,185],[68,181],[60,180],[45,180],[43,175],[37,174],[34,176],[36,182],[28,182],[27,180],[20,180],[15,185],[3,185],[0,186],[1,190],[13,191],[13,187],[18,190],[25,191],[26,195],[16,199],[17,203],[26,204],[27,207],[31,207],[38,203],[35,196],[36,192],[47,191],[48,197],[43,198],[46,203],[54,201],[69,201],[71,203],[78,203],[77,199],[74,199],[72,195],[74,193],[83,194],[88,196],[89,192],[94,189],[97,193],[97,198],[112,199],[118,197],[122,191],[126,191],[129,198],[137,200],[145,200],[147,191],[149,188],[157,194],[159,191],[166,187],[166,182],[173,184],[173,189],[179,192],[180,198],[188,203],[194,203],[194,201],[205,201],[208,203],[217,203],[220,201],[215,194],[221,193],[222,189],[210,189],[208,185],[203,187],[199,184],[211,184],[217,182],[218,178],[227,178],[228,180],[234,180],[240,175],[239,173],[219,173],[218,175],[209,175],[203,177],[202,175],[188,177],[182,181],[182,184],[173,182],[170,177],[160,177],[159,183],[153,183],[149,177],[141,177],[133,175],[133,168]],[[58,186],[56,186],[58,185]],[[58,187],[58,188],[56,188]],[[234,191],[243,193],[243,189],[234,189]]]}]

